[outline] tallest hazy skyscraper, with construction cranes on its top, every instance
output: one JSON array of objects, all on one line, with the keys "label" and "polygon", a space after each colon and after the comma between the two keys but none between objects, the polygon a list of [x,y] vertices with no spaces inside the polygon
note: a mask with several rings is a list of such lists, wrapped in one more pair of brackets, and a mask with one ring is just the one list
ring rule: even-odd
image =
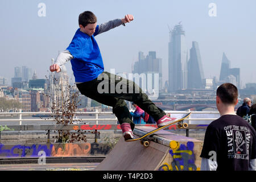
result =
[{"label": "tallest hazy skyscraper, with construction cranes on its top", "polygon": [[187,48],[185,31],[182,25],[177,24],[170,31],[168,55],[169,92],[187,88]]}]

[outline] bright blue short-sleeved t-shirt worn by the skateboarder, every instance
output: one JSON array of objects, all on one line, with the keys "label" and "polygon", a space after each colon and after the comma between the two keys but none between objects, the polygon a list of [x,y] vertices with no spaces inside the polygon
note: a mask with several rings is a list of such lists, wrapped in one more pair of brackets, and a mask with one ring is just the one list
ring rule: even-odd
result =
[{"label": "bright blue short-sleeved t-shirt worn by the skateboarder", "polygon": [[104,72],[100,48],[94,39],[97,33],[98,25],[92,36],[79,28],[67,48],[73,56],[71,65],[76,82],[91,81]]}]

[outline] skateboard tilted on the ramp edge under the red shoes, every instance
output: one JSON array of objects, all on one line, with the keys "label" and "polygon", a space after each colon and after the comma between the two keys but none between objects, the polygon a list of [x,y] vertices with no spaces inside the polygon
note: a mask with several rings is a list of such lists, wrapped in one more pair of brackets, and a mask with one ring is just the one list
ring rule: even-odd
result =
[{"label": "skateboard tilted on the ramp edge under the red shoes", "polygon": [[153,133],[155,133],[156,131],[159,131],[159,130],[162,130],[164,129],[165,127],[168,127],[168,126],[171,126],[171,125],[174,125],[175,123],[177,123],[178,127],[179,128],[187,128],[188,127],[188,123],[183,123],[184,119],[188,118],[189,115],[191,115],[191,113],[188,113],[186,114],[183,118],[180,118],[180,119],[177,119],[176,121],[173,121],[171,123],[169,123],[168,125],[165,125],[165,126],[162,126],[162,127],[159,127],[155,130],[152,130],[144,135],[142,135],[142,137],[140,138],[135,138],[135,139],[129,139],[129,140],[126,140],[126,142],[133,142],[133,141],[136,141],[136,140],[141,140],[141,144],[144,146],[144,147],[148,147],[150,142],[145,139],[148,135],[152,135]]}]

